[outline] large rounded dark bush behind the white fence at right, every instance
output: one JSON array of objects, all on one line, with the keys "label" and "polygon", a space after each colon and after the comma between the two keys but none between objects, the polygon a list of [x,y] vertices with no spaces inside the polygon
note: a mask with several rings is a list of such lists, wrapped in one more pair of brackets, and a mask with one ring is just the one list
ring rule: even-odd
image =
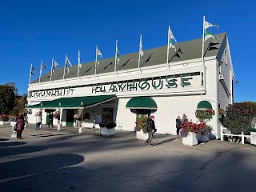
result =
[{"label": "large rounded dark bush behind the white fence at right", "polygon": [[235,102],[233,106],[227,107],[226,117],[223,125],[232,134],[250,134],[250,115],[256,115],[256,102]]}]

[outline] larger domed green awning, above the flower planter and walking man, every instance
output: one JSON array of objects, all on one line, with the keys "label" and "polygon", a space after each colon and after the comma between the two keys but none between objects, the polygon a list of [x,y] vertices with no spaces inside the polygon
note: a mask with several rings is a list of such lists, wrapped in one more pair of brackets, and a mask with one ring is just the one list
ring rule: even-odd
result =
[{"label": "larger domed green awning, above the flower planter and walking man", "polygon": [[126,104],[127,109],[146,109],[146,110],[157,110],[157,103],[154,102],[153,98],[141,96],[134,97],[129,100]]}]

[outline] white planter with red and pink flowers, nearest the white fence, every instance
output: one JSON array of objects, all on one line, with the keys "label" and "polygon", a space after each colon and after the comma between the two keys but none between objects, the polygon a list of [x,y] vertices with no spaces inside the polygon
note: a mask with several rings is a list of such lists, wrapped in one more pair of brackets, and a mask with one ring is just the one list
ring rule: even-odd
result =
[{"label": "white planter with red and pink flowers, nearest the white fence", "polygon": [[184,145],[194,146],[200,142],[209,141],[211,127],[206,122],[183,122],[181,125],[182,143]]}]

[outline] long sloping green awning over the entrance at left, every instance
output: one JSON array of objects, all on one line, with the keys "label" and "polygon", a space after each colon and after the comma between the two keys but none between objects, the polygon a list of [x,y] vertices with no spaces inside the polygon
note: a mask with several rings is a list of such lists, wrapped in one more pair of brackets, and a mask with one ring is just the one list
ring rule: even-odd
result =
[{"label": "long sloping green awning over the entrance at left", "polygon": [[78,109],[89,108],[91,106],[97,106],[103,102],[108,102],[116,98],[115,94],[110,95],[98,95],[98,96],[86,96],[86,97],[74,97],[74,98],[58,98],[53,101],[41,102],[34,106],[27,106],[27,108],[40,108],[40,109]]}]

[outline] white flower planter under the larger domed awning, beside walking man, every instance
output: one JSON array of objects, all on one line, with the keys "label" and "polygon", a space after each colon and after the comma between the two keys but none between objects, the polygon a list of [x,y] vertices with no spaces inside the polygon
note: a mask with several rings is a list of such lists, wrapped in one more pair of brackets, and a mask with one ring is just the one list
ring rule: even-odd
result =
[{"label": "white flower planter under the larger domed awning, beside walking man", "polygon": [[149,136],[146,131],[147,117],[142,115],[140,118],[136,118],[136,126],[134,130],[136,131],[136,138],[146,140]]}]

